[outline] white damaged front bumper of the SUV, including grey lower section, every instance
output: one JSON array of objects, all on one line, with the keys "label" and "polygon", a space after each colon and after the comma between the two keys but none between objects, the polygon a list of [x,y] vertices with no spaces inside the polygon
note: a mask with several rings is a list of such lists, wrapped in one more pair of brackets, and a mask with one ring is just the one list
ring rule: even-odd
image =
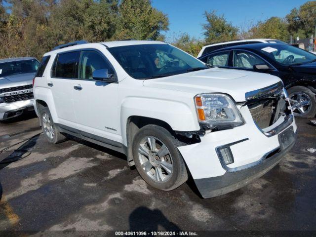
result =
[{"label": "white damaged front bumper of the SUV, including grey lower section", "polygon": [[[292,115],[277,124],[273,134],[266,134],[258,128],[249,109],[239,109],[245,124],[233,129],[206,133],[200,142],[178,147],[197,189],[204,198],[216,197],[247,185],[272,169],[294,145],[296,124]],[[292,138],[282,139],[290,131]],[[287,134],[285,134],[285,140]],[[284,136],[283,136],[284,139]],[[225,164],[218,149],[229,147],[233,163]]]}]

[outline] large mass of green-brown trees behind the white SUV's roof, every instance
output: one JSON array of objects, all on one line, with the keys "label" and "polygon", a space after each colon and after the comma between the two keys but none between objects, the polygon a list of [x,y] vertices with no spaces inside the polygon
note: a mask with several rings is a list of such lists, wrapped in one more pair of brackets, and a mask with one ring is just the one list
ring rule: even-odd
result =
[{"label": "large mass of green-brown trees behind the white SUV's roof", "polygon": [[[75,40],[163,40],[168,18],[149,0],[0,0],[0,58],[41,56]],[[3,48],[3,49],[2,49]]]}]

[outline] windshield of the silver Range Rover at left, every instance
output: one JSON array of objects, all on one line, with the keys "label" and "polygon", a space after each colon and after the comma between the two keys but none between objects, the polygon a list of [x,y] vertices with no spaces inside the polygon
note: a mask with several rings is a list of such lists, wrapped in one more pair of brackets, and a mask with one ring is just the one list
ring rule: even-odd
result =
[{"label": "windshield of the silver Range Rover at left", "polygon": [[0,63],[0,77],[15,74],[36,73],[40,63],[36,59]]}]

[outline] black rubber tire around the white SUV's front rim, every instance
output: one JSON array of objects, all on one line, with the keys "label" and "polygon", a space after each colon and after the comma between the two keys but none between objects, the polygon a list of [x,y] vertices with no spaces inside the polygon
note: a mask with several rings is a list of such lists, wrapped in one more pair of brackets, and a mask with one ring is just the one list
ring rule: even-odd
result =
[{"label": "black rubber tire around the white SUV's front rim", "polygon": [[[146,137],[155,137],[161,141],[169,150],[171,155],[171,160],[173,164],[172,174],[168,177],[166,181],[157,182],[153,180],[143,169],[141,165],[141,160],[139,158],[138,148]],[[188,180],[188,172],[185,162],[178,150],[178,146],[183,146],[184,144],[174,138],[168,130],[157,125],[146,125],[142,127],[133,139],[133,158],[135,166],[137,168],[140,176],[151,186],[159,190],[170,191],[178,188],[180,185]],[[149,159],[148,159],[149,160]],[[153,167],[155,169],[155,167]]]}]

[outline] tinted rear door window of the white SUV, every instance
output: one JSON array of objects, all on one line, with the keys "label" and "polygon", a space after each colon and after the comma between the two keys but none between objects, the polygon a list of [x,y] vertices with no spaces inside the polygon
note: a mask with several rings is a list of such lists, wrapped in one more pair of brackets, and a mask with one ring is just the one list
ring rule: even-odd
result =
[{"label": "tinted rear door window of the white SUV", "polygon": [[56,61],[56,78],[75,78],[77,62],[79,60],[79,51],[60,53]]}]

